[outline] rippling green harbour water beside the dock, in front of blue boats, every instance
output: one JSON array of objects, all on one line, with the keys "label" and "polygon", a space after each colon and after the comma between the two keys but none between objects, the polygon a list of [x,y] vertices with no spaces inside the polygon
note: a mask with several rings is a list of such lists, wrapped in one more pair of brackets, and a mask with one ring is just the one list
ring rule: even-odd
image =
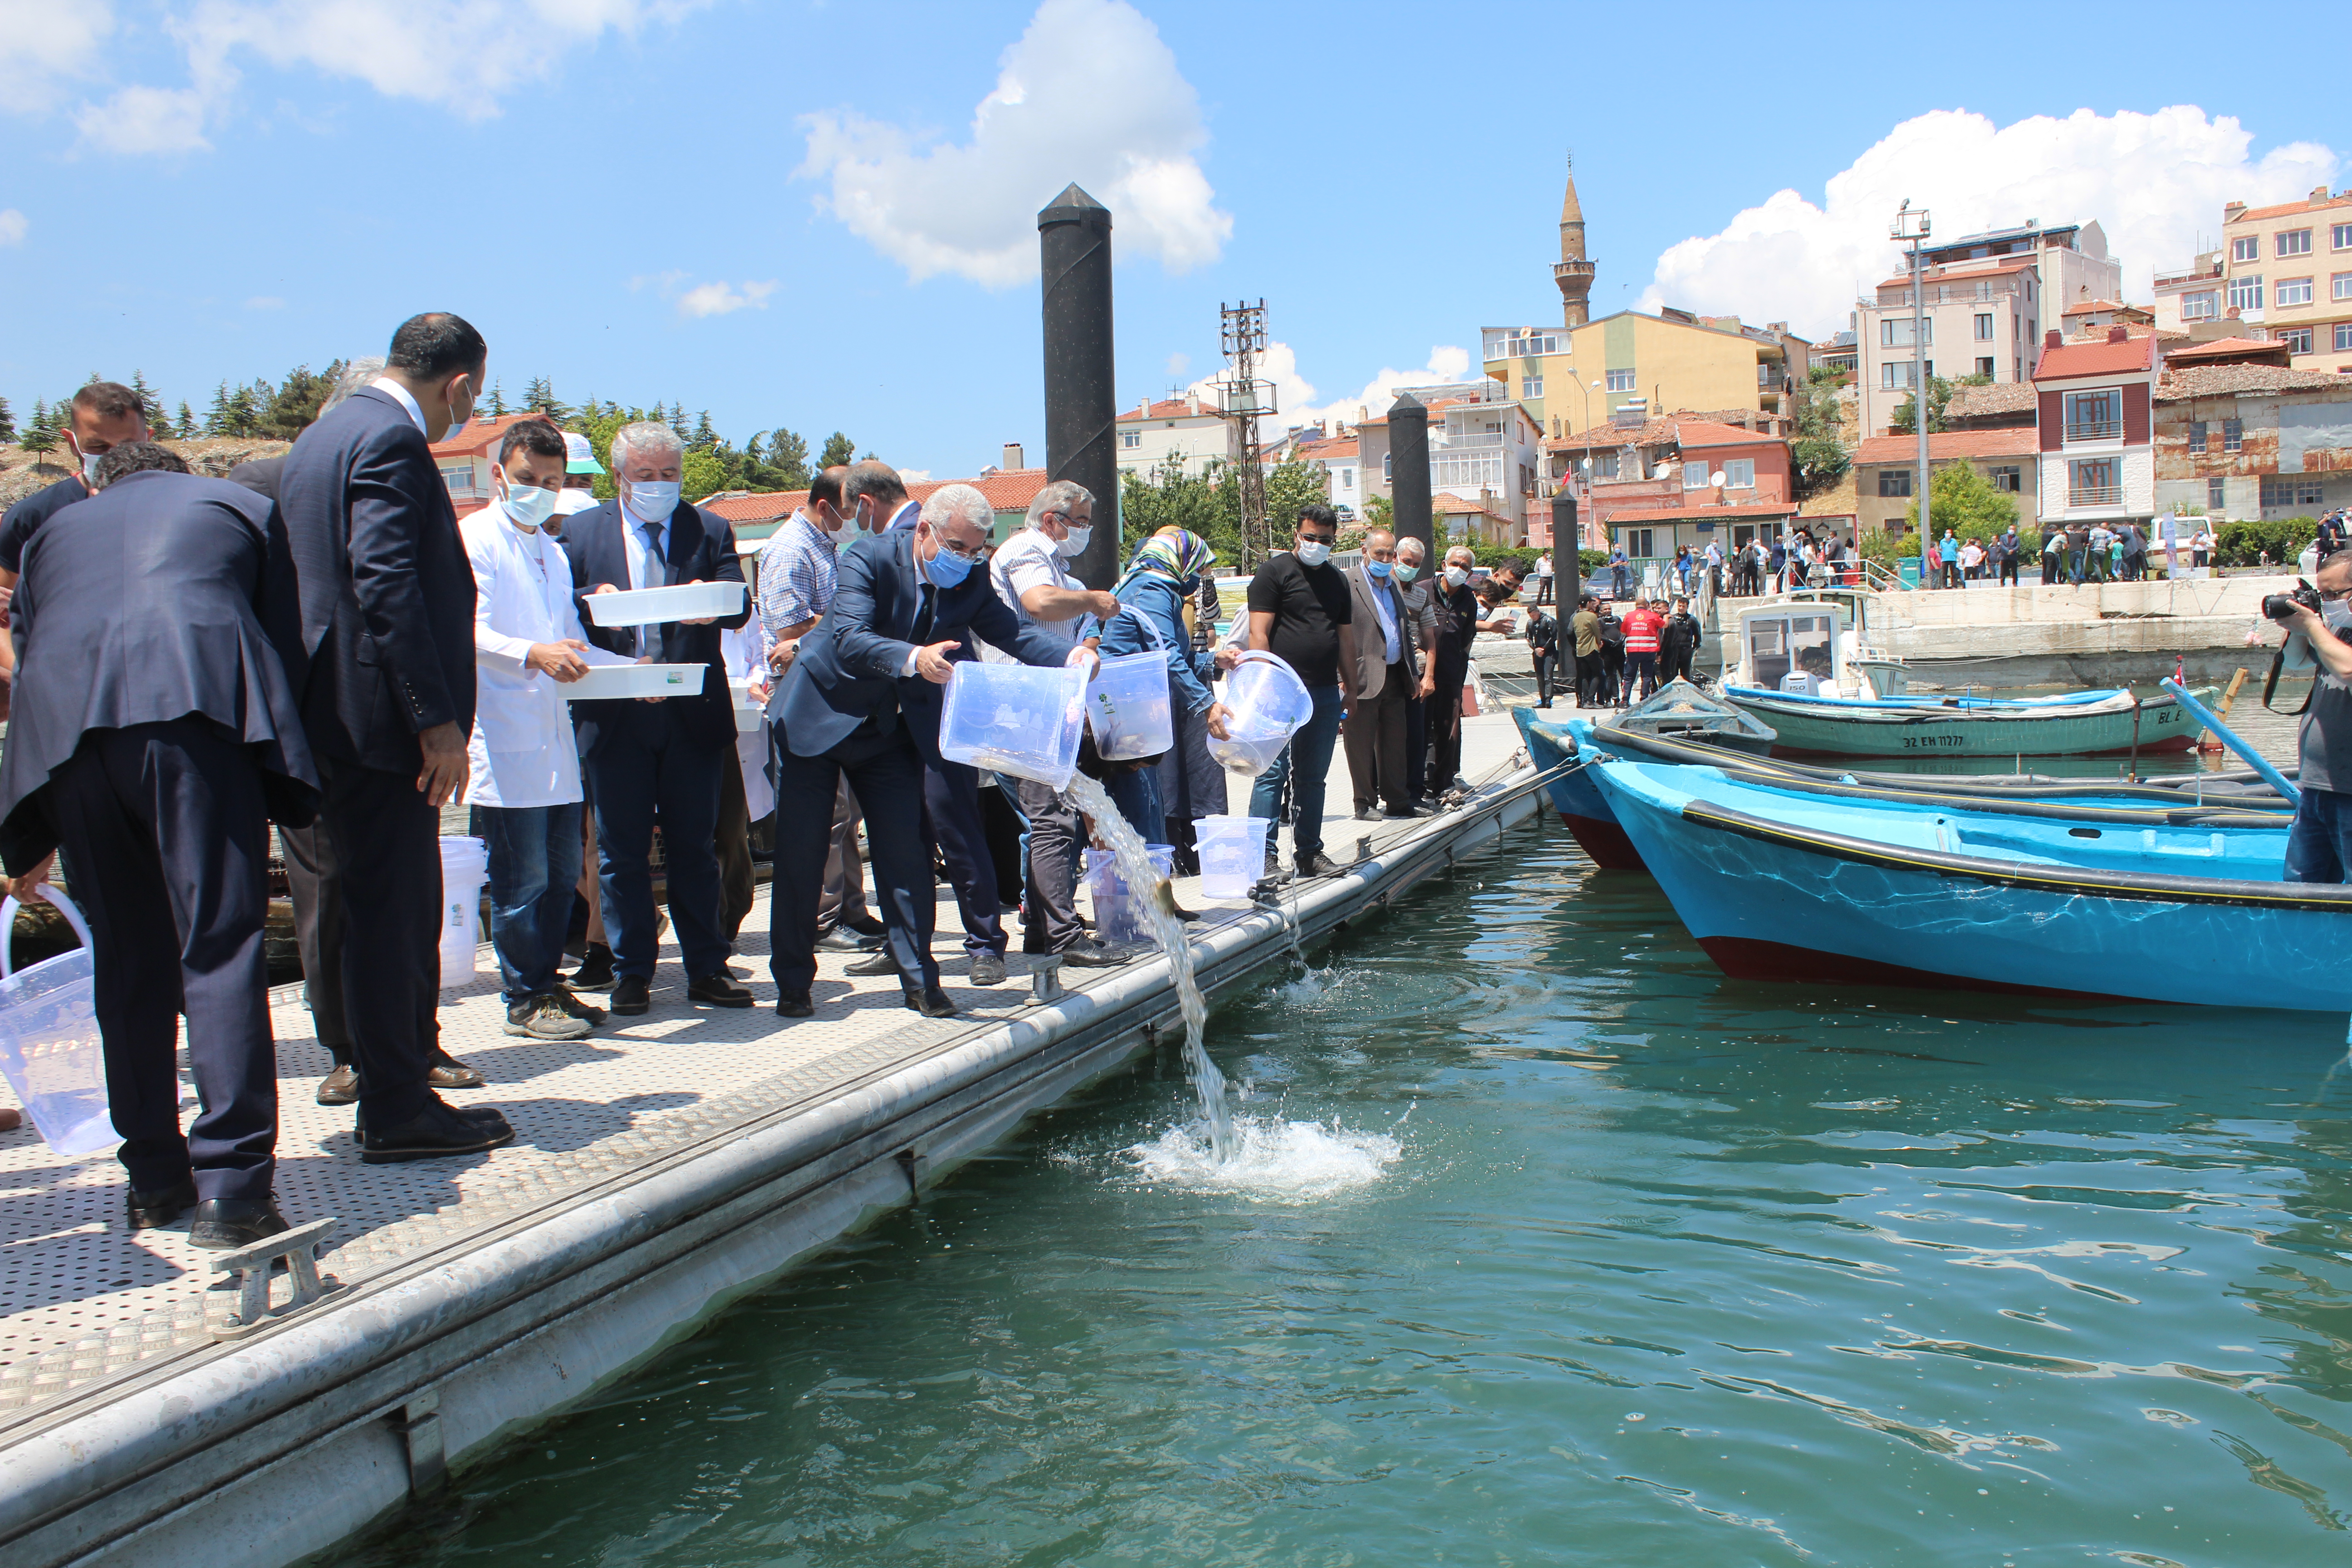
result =
[{"label": "rippling green harbour water beside the dock, in front of blue boats", "polygon": [[2352,1554],[2343,1018],[1731,985],[1555,827],[1317,964],[1261,1190],[1141,1063],[355,1561]]}]

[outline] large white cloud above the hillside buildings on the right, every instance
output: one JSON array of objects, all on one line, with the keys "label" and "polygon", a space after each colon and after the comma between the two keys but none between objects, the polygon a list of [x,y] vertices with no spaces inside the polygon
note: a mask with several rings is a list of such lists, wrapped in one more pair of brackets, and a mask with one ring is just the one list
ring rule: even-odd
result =
[{"label": "large white cloud above the hillside buildings on the right", "polygon": [[1722,230],[1670,247],[1637,308],[1788,320],[1799,334],[1846,327],[1858,294],[1891,275],[1886,240],[1905,197],[1926,207],[1936,235],[1966,235],[2039,219],[2098,219],[2124,263],[2124,292],[2147,301],[2157,270],[2211,247],[2223,202],[2279,202],[2331,183],[2338,155],[2296,141],[2251,158],[2253,132],[2194,106],[2143,115],[2089,108],[1994,127],[1969,110],[1933,110],[1896,125],[1830,176],[1823,200],[1778,190]]}]

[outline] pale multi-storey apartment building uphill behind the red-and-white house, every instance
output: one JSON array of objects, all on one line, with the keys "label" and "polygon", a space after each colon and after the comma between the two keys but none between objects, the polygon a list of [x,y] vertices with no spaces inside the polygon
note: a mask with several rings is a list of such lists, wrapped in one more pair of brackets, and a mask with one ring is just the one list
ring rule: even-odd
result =
[{"label": "pale multi-storey apartment building uphill behind the red-and-white house", "polygon": [[[1924,247],[1919,263],[1926,374],[1947,381],[2030,381],[2042,334],[2067,306],[2124,292],[2124,263],[2107,254],[2107,233],[2096,221],[2027,221],[1962,235]],[[1900,273],[1856,301],[1863,435],[1889,435],[1896,409],[1912,395],[1919,374],[1912,310],[1907,256]]]}]

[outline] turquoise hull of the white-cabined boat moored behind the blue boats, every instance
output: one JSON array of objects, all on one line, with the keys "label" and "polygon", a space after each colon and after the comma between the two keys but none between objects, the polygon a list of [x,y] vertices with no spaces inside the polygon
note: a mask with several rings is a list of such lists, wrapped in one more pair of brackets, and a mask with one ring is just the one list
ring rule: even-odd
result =
[{"label": "turquoise hull of the white-cabined boat moored behind the blue boats", "polygon": [[[2138,710],[1997,712],[1959,708],[1825,708],[1736,693],[1731,701],[1778,731],[1773,757],[2105,757],[2185,752],[2201,724],[2171,698]],[[2138,736],[2133,736],[2138,731]]]}]

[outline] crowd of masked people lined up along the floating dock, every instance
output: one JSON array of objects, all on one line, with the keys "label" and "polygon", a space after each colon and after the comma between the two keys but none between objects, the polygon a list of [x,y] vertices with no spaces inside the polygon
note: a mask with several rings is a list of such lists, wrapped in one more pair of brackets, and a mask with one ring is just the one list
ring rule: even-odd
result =
[{"label": "crowd of masked people lined up along the floating dock", "polygon": [[[1108,762],[1089,738],[1080,769],[1181,870],[1197,865],[1190,825],[1228,811],[1216,679],[1247,651],[1284,658],[1312,696],[1249,799],[1289,823],[1287,851],[1268,839],[1270,879],[1338,870],[1322,795],[1343,736],[1359,818],[1430,816],[1463,788],[1470,642],[1515,628],[1515,569],[1472,588],[1470,550],[1432,571],[1423,541],[1385,531],[1338,567],[1336,515],[1303,505],[1218,642],[1200,536],[1162,529],[1096,590],[1070,569],[1094,529],[1080,484],[1044,484],[995,543],[978,489],[917,503],[868,458],[816,473],[746,571],[731,527],[682,498],[682,440],[652,421],[604,451],[546,418],[508,423],[492,503],[459,520],[433,447],[475,416],[487,360],[461,317],[412,317],[383,360],[350,362],[285,456],[228,477],[191,473],[134,390],[94,381],[68,418],[78,473],[0,520],[0,870],[19,896],[71,882],[87,912],[132,1229],[186,1213],[198,1246],[235,1248],[287,1227],[273,827],[332,1056],[318,1100],[353,1107],[360,1159],[390,1164],[515,1138],[499,1110],[445,1098],[485,1084],[437,1023],[452,804],[487,858],[506,1032],[579,1039],[656,1006],[663,926],[684,969],[670,1004],[755,1006],[729,959],[757,907],[757,820],[774,823],[783,1018],[816,1011],[818,952],[953,1016],[931,954],[938,877],[971,985],[1004,983],[1009,912],[1025,952],[1134,957],[1080,917],[1094,830],[1070,797],[941,755],[964,661],[1162,654],[1176,743]],[[673,623],[597,616],[602,595],[694,583],[746,590]],[[701,689],[569,693],[642,663],[701,665]],[[764,705],[755,736],[739,738],[736,691]],[[200,1100],[186,1128],[181,1041]]]}]

